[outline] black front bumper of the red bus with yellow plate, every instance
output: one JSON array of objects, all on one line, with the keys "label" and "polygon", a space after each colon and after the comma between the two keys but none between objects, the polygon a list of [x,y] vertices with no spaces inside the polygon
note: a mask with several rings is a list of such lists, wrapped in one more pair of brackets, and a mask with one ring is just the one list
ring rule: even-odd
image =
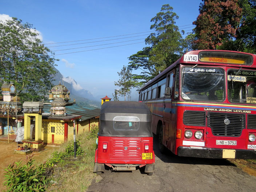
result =
[{"label": "black front bumper of the red bus with yellow plate", "polygon": [[184,157],[201,157],[213,159],[256,159],[254,149],[219,149],[219,148],[197,148],[184,147],[177,148],[177,155]]}]

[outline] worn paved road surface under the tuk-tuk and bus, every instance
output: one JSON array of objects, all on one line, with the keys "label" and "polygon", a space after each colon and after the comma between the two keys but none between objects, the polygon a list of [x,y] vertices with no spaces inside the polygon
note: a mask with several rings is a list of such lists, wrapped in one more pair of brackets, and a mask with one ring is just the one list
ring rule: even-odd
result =
[{"label": "worn paved road surface under the tuk-tuk and bus", "polygon": [[152,176],[143,169],[105,171],[88,192],[252,192],[256,177],[225,159],[199,159],[161,154],[154,146],[156,168]]}]

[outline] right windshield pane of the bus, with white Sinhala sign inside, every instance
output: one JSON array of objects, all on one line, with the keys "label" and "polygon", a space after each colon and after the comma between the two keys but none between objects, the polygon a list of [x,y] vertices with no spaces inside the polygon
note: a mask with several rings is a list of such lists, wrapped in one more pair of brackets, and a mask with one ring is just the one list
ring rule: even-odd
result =
[{"label": "right windshield pane of the bus, with white Sinhala sign inside", "polygon": [[230,69],[227,79],[230,102],[256,104],[256,71]]}]

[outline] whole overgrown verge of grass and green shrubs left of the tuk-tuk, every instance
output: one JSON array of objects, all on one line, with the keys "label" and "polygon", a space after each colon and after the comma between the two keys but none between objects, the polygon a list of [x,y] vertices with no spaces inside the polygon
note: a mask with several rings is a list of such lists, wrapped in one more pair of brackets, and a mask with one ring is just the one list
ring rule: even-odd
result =
[{"label": "whole overgrown verge of grass and green shrubs left of the tuk-tuk", "polygon": [[55,149],[28,155],[25,161],[19,160],[9,164],[4,173],[6,191],[86,191],[96,176],[93,167],[98,127],[92,129],[92,132],[77,136],[76,159],[73,155],[74,144],[70,140]]}]

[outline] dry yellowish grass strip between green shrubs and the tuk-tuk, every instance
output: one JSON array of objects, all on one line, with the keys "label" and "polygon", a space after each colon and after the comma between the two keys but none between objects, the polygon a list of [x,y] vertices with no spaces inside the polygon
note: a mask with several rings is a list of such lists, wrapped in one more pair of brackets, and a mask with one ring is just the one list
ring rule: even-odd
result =
[{"label": "dry yellowish grass strip between green shrubs and the tuk-tuk", "polygon": [[[51,184],[47,188],[47,192],[83,192],[91,185],[93,177],[96,176],[93,173],[96,137],[91,136],[89,132],[78,135],[77,140],[80,141],[84,154],[78,155],[78,160],[74,160],[71,156],[69,159],[64,159],[61,163],[54,165],[55,171],[49,178]],[[57,151],[63,152],[71,143],[73,141],[63,144]]]}]

